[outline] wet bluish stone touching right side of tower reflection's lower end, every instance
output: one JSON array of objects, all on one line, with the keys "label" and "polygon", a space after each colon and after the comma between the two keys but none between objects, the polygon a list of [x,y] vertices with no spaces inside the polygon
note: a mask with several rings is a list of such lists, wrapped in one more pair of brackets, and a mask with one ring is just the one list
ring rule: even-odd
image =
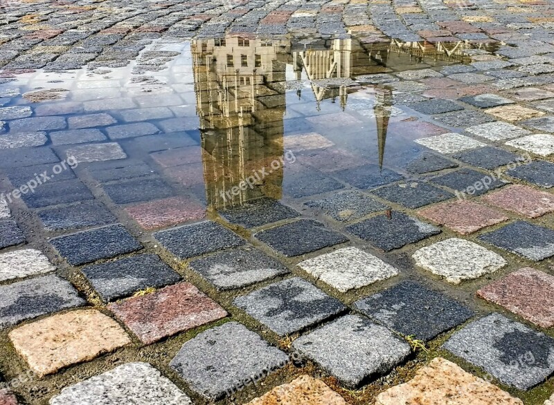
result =
[{"label": "wet bluish stone touching right side of tower reflection's lower end", "polygon": [[[327,174],[327,173],[326,173]],[[344,186],[321,171],[300,164],[285,167],[283,190],[294,198],[342,189]]]}]

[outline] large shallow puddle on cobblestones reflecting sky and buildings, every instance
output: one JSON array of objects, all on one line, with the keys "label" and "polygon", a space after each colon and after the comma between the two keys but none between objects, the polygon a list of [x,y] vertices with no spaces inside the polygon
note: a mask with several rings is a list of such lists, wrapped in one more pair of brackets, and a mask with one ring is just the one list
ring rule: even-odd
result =
[{"label": "large shallow puddle on cobblestones reflecting sky and buildings", "polygon": [[[464,64],[495,46],[306,37],[154,41],[121,68],[4,72],[15,76],[0,87],[4,106],[30,106],[35,118],[8,121],[5,135],[46,130],[46,146],[60,156],[117,142],[127,160],[100,157],[82,167],[131,171],[145,162],[149,176],[210,209],[304,198],[328,191],[337,171],[366,164],[405,171],[425,149],[413,140],[447,130],[405,105],[420,100],[411,91],[429,88],[425,80],[393,74]],[[53,117],[67,127],[44,122]]]}]

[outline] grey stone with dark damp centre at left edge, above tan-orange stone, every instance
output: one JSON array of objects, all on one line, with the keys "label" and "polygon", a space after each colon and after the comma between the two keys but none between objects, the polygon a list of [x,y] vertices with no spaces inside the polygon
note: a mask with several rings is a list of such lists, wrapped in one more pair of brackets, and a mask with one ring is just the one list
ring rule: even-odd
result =
[{"label": "grey stone with dark damp centre at left edge, above tan-orange stone", "polygon": [[73,285],[53,274],[0,285],[0,329],[85,303]]}]

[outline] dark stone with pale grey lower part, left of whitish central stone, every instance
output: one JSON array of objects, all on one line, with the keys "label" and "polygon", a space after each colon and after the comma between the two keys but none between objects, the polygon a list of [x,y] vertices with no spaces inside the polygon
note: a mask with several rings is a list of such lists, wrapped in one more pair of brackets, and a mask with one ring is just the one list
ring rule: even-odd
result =
[{"label": "dark stone with pale grey lower part, left of whitish central stone", "polygon": [[253,247],[199,258],[188,264],[217,290],[233,290],[289,273],[287,267]]}]

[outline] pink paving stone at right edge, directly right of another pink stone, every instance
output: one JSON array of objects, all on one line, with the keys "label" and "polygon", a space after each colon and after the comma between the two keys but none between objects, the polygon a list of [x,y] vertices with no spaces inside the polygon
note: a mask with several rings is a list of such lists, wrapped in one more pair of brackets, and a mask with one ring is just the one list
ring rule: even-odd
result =
[{"label": "pink paving stone at right edge, directly right of another pink stone", "polygon": [[504,187],[487,194],[483,201],[528,218],[554,212],[554,194],[523,185]]}]

